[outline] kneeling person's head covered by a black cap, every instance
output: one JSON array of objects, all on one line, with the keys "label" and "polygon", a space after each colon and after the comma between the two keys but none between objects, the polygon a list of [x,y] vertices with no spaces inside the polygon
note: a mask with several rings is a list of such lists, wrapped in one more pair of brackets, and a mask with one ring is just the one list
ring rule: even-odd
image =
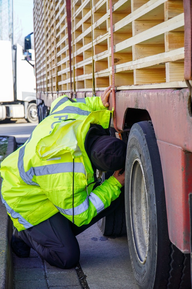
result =
[{"label": "kneeling person's head covered by a black cap", "polygon": [[89,157],[92,165],[103,172],[125,168],[126,144],[110,135],[91,139]]}]

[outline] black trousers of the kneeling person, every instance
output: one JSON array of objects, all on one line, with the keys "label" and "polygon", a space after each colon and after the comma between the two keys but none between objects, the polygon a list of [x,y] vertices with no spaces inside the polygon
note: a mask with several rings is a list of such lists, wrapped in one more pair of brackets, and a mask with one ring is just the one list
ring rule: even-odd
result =
[{"label": "black trousers of the kneeling person", "polygon": [[87,225],[78,227],[61,213],[56,213],[40,224],[18,232],[19,236],[50,265],[62,269],[72,268],[80,259],[80,248],[75,236],[112,213],[122,202],[122,195]]}]

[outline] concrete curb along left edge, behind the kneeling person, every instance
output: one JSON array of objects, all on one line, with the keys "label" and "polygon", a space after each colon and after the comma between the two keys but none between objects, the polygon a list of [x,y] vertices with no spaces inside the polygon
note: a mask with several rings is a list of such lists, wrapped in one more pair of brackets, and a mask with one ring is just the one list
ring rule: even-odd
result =
[{"label": "concrete curb along left edge, behind the kneeling person", "polygon": [[[6,157],[15,150],[15,137],[10,136],[8,138]],[[0,178],[0,185],[1,182]],[[13,287],[13,259],[9,241],[12,236],[12,222],[2,202],[0,202],[0,222],[0,289],[11,289]]]}]

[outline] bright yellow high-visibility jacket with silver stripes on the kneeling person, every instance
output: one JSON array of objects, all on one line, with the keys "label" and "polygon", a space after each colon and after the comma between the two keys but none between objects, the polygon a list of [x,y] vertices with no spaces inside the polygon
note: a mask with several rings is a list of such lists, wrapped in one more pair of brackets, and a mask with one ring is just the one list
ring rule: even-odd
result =
[{"label": "bright yellow high-visibility jacket with silver stripes on the kneeling person", "polygon": [[92,191],[94,172],[84,148],[90,124],[106,129],[111,116],[101,97],[71,101],[63,95],[27,142],[2,161],[1,198],[19,231],[58,212],[69,220],[74,215],[77,226],[88,224],[119,196],[122,186],[113,176]]}]

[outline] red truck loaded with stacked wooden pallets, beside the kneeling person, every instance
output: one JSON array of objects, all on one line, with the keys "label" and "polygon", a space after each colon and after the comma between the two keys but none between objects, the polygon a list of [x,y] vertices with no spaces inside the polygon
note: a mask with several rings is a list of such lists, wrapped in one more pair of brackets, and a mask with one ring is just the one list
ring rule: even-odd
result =
[{"label": "red truck loaded with stacked wooden pallets, beside the kneeling person", "polygon": [[191,288],[191,5],[34,0],[39,121],[63,94],[94,97],[112,85],[111,134],[127,143],[125,200],[98,226],[104,235],[126,228],[140,289]]}]

